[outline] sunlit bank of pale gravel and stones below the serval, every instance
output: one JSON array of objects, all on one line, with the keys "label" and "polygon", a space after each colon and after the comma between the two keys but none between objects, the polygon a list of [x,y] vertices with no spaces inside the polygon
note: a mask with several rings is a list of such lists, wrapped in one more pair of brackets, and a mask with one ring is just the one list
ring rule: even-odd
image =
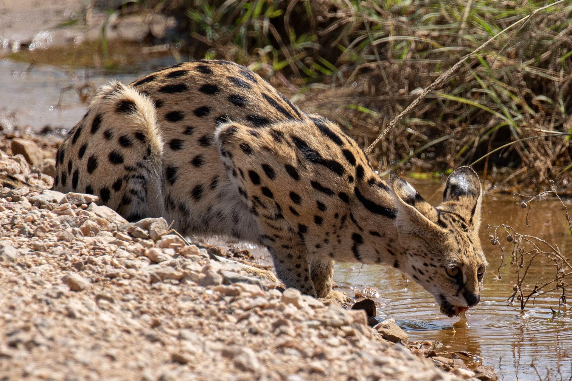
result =
[{"label": "sunlit bank of pale gravel and stones below the serval", "polygon": [[492,379],[407,348],[391,320],[282,291],[162,218],[128,223],[49,190],[55,147],[0,137],[1,380]]}]

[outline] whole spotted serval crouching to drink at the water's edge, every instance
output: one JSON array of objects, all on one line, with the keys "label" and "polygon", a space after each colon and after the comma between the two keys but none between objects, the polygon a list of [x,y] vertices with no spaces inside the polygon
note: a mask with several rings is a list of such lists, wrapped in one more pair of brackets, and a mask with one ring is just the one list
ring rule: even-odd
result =
[{"label": "whole spotted serval crouching to drink at the water's edge", "polygon": [[331,291],[336,260],[399,268],[448,315],[482,286],[474,171],[455,170],[435,208],[396,175],[379,178],[335,123],[232,62],[102,87],[56,162],[55,190],[96,194],[129,220],[164,216],[183,234],[264,244],[286,286],[309,295]]}]

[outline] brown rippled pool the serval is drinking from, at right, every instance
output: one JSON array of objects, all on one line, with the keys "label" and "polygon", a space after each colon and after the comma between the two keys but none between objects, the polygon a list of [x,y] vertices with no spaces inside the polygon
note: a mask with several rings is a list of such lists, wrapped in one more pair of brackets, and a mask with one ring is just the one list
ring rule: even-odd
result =
[{"label": "brown rippled pool the serval is drinking from, at right", "polygon": [[[416,189],[439,203],[439,187],[442,183],[415,183]],[[533,204],[529,215],[530,227],[525,224],[523,210],[510,196],[486,197],[483,206],[481,240],[490,263],[484,279],[482,301],[467,314],[469,328],[455,328],[449,319],[440,314],[434,298],[421,286],[404,280],[399,271],[381,266],[355,266],[336,264],[335,280],[341,290],[353,296],[354,290],[369,286],[380,293],[376,300],[380,318],[394,318],[410,340],[434,340],[442,343],[437,352],[468,351],[479,356],[473,366],[480,363],[492,365],[502,372],[506,380],[538,380],[531,364],[535,364],[542,379],[555,379],[558,368],[563,379],[572,376],[572,318],[570,315],[553,317],[550,306],[558,308],[558,294],[547,294],[529,302],[525,314],[519,305],[507,306],[507,297],[513,292],[514,267],[501,268],[502,280],[496,280],[501,264],[499,246],[488,243],[487,224],[508,223],[517,231],[532,234],[557,243],[561,252],[572,249],[572,239],[558,201],[544,200]],[[502,237],[501,245],[512,244]],[[505,259],[505,263],[510,258]],[[538,260],[538,258],[537,258]],[[494,272],[494,274],[493,274]],[[527,290],[534,282],[554,279],[552,262],[541,258],[529,270]],[[471,361],[467,361],[470,364]],[[482,362],[479,362],[482,360]],[[499,375],[499,379],[500,375]]]}]

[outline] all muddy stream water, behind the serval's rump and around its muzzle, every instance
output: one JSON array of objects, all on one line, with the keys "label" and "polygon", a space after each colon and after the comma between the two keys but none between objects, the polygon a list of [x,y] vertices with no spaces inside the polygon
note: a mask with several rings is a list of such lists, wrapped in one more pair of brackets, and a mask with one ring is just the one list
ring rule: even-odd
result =
[{"label": "all muddy stream water, behind the serval's rump and around its muzzle", "polygon": [[[30,70],[27,63],[0,59],[0,122],[10,127],[17,118],[18,125],[36,131],[45,125],[70,129],[85,113],[86,106],[75,90],[66,91],[57,106],[61,89],[84,83],[97,86],[112,78],[130,82],[156,67],[172,63],[172,59],[164,58],[122,73],[74,70],[70,76],[53,66],[34,65]],[[441,182],[414,184],[426,198],[433,195],[430,202],[439,202]],[[521,233],[557,243],[561,252],[572,256],[572,239],[558,202],[545,200],[535,204],[529,218],[531,227],[526,226],[523,210],[510,197],[484,199],[482,242],[491,266],[484,278],[482,301],[467,314],[468,328],[454,330],[451,324],[456,319],[441,315],[431,295],[415,282],[403,279],[393,268],[340,263],[336,264],[335,280],[340,290],[350,296],[366,287],[373,288],[379,294],[370,295],[378,306],[379,319],[394,318],[408,332],[410,340],[440,342],[438,352],[465,351],[467,356],[461,358],[467,364],[495,366],[499,379],[538,380],[536,368],[540,379],[560,379],[557,376],[560,372],[567,380],[572,376],[572,318],[570,314],[566,317],[551,313],[549,306],[558,307],[558,296],[537,298],[521,314],[518,306],[506,303],[514,284],[514,267],[502,268],[502,280],[495,276],[501,263],[500,251],[499,246],[488,243],[486,224],[510,223]],[[504,240],[504,235],[501,244],[512,246]],[[259,260],[268,262],[264,250],[239,246],[249,248]],[[526,288],[530,290],[535,282],[551,280],[553,275],[550,262],[537,260],[529,270]]]}]

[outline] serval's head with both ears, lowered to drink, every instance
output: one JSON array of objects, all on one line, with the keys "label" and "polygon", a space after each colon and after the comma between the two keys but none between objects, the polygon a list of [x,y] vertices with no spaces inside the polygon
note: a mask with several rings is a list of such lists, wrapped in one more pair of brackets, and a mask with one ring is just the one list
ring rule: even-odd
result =
[{"label": "serval's head with both ears, lowered to drink", "polygon": [[478,175],[470,167],[452,171],[437,207],[397,175],[391,175],[390,183],[403,247],[400,269],[431,292],[447,316],[475,306],[487,266],[479,240]]}]

